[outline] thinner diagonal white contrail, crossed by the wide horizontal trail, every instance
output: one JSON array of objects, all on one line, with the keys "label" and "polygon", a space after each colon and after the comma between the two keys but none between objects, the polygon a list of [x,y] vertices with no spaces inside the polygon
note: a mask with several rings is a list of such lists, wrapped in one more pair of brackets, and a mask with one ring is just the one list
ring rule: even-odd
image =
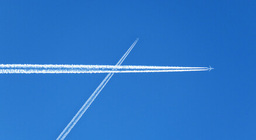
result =
[{"label": "thinner diagonal white contrail, crossed by the wide horizontal trail", "polygon": [[[127,55],[130,53],[130,51],[133,49],[133,47],[135,46],[135,44],[137,43],[137,41],[139,40],[139,38],[137,38],[134,43],[132,44],[132,46],[129,48],[129,50],[126,51],[126,53],[123,55],[123,57],[117,62],[116,65],[121,65],[122,62],[124,61],[124,59],[127,57]],[[98,88],[96,88],[96,90],[94,91],[94,93],[92,93],[92,95],[89,97],[89,99],[85,102],[85,104],[80,108],[80,110],[77,112],[77,114],[75,114],[75,117],[72,118],[72,120],[70,121],[70,123],[67,125],[67,127],[65,127],[65,129],[61,132],[61,134],[58,136],[57,139],[64,139],[68,133],[71,131],[71,129],[74,127],[75,124],[77,124],[77,121],[82,117],[82,115],[85,113],[85,111],[87,110],[87,108],[92,104],[92,101],[95,100],[95,98],[99,95],[99,92],[101,92],[101,90],[104,88],[104,86],[106,85],[106,83],[108,83],[109,79],[113,76],[113,73],[109,73],[105,79],[103,79],[103,81],[101,82],[101,84],[98,86]]]}]

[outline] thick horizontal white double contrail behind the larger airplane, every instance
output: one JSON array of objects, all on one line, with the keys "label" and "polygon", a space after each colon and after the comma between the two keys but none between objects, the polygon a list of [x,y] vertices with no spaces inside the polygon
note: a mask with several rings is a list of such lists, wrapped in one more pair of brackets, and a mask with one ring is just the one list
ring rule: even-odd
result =
[{"label": "thick horizontal white double contrail behind the larger airplane", "polygon": [[133,72],[182,72],[206,70],[208,70],[207,67],[0,64],[0,74],[86,74]]}]

